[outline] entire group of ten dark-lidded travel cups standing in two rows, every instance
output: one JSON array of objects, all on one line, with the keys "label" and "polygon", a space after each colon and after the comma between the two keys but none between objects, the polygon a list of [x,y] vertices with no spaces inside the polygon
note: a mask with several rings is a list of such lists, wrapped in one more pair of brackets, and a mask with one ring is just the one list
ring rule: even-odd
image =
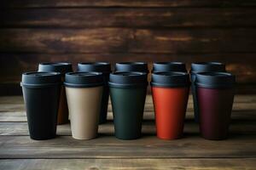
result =
[{"label": "entire group of ten dark-lidded travel cups standing in two rows", "polygon": [[[71,122],[74,139],[96,138],[98,124],[106,122],[108,96],[118,139],[142,135],[148,65],[143,62],[39,64],[38,71],[22,74],[26,116],[32,139],[52,139],[56,124]],[[191,81],[191,82],[190,82]],[[195,122],[205,139],[225,139],[230,125],[235,77],[217,62],[193,63],[190,77],[180,62],[154,63],[151,91],[157,137],[183,136],[191,83]]]}]

